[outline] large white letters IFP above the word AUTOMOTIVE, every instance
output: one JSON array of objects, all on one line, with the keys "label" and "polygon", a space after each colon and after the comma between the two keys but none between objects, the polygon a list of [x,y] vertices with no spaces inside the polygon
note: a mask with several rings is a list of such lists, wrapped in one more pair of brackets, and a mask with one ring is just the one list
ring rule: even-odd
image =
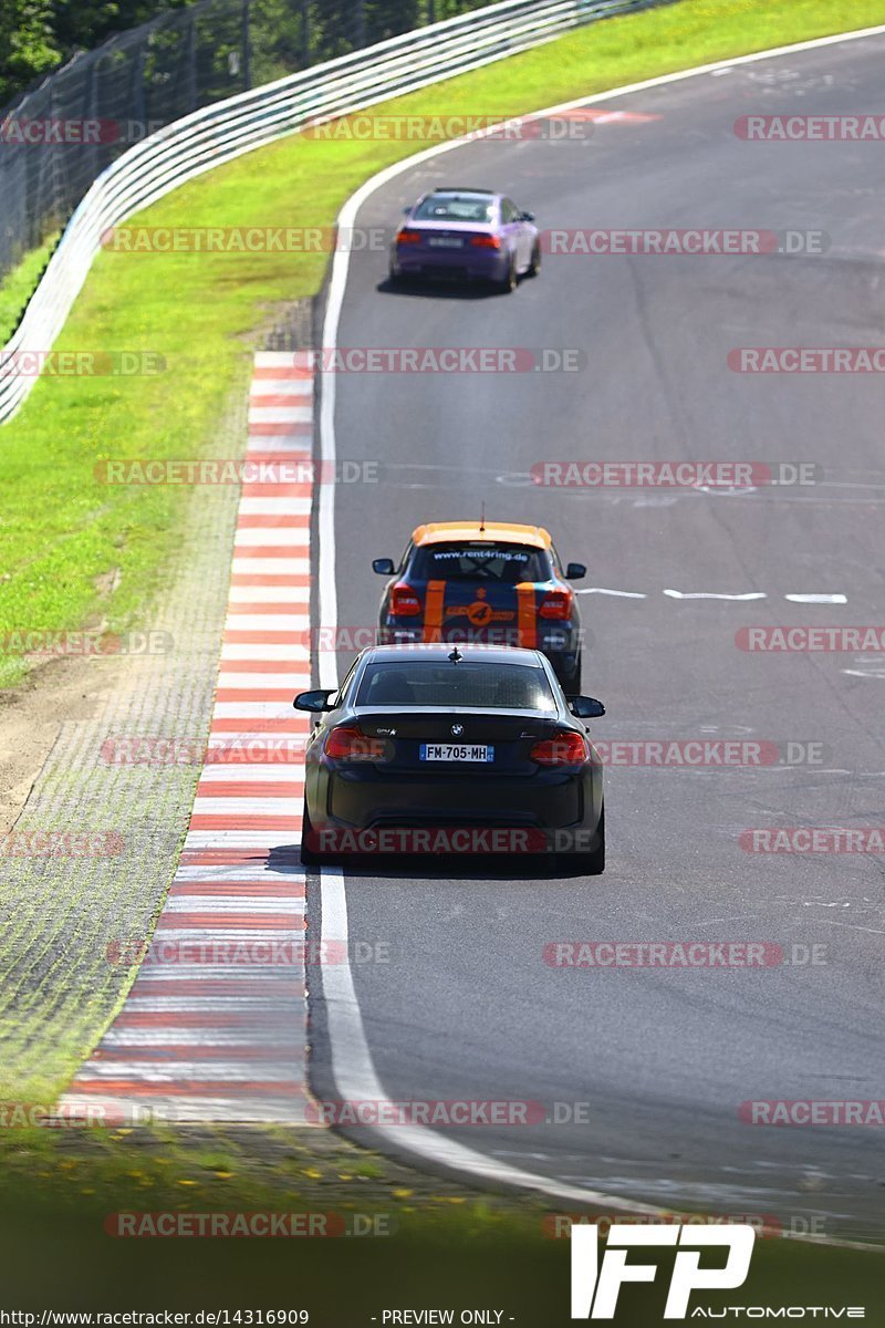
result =
[{"label": "large white letters IFP above the word AUTOMOTIVE", "polygon": [[[653,1263],[628,1263],[634,1246],[678,1246],[665,1319],[685,1319],[693,1291],[730,1291],[743,1287],[750,1272],[756,1232],[750,1226],[695,1227],[649,1223],[632,1226],[616,1222],[609,1227],[608,1246],[600,1264],[598,1228],[572,1227],[572,1319],[614,1319],[618,1292],[625,1282],[654,1282]],[[726,1246],[722,1268],[702,1268],[701,1251]]]}]

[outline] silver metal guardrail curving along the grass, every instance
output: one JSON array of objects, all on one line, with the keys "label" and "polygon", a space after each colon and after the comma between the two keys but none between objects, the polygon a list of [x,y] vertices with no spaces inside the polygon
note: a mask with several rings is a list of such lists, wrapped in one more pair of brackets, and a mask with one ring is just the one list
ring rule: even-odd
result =
[{"label": "silver metal guardrail curving along the grass", "polygon": [[21,323],[0,351],[0,422],[16,414],[36,381],[16,373],[15,365],[24,353],[52,348],[102,235],[127,216],[320,117],[350,114],[525,50],[569,28],[661,3],[671,0],[502,0],[228,97],[135,143],[96,179],[74,210]]}]

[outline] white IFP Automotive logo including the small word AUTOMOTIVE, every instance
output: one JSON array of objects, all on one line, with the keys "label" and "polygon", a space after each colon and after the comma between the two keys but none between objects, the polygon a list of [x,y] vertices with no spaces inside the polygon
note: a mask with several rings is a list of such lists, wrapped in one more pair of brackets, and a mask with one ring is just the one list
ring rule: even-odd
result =
[{"label": "white IFP Automotive logo including the small word AUTOMOTIVE", "polygon": [[[694,1223],[651,1222],[641,1226],[614,1222],[608,1226],[605,1254],[600,1260],[600,1235],[606,1226],[573,1223],[572,1243],[572,1319],[614,1319],[621,1287],[626,1282],[654,1282],[658,1268],[654,1263],[628,1263],[629,1251],[642,1248],[677,1247],[673,1272],[663,1303],[663,1319],[865,1319],[864,1305],[728,1305],[710,1308],[703,1304],[690,1307],[695,1291],[734,1291],[743,1287],[750,1274],[750,1260],[756,1239],[752,1226],[728,1222],[723,1226],[697,1226]],[[707,1250],[724,1247],[710,1260]],[[702,1259],[705,1267],[701,1267]],[[663,1279],[662,1279],[663,1280]],[[663,1288],[658,1291],[658,1304]],[[626,1303],[626,1297],[625,1297]],[[651,1320],[645,1320],[650,1323]]]}]

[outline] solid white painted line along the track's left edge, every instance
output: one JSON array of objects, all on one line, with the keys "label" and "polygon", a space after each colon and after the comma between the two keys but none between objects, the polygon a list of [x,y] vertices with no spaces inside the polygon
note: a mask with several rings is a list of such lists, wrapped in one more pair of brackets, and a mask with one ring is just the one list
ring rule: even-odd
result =
[{"label": "solid white painted line along the track's left edge", "polygon": [[[624,97],[628,93],[645,92],[649,88],[662,88],[666,84],[678,82],[683,78],[695,78],[699,74],[715,73],[730,69],[734,65],[752,64],[758,60],[771,60],[778,56],[791,54],[800,50],[813,50],[817,46],[829,46],[841,41],[856,41],[861,37],[872,37],[885,33],[885,24],[876,28],[864,28],[860,32],[839,33],[832,37],[816,37],[813,41],[800,41],[791,46],[778,46],[772,50],[760,50],[750,56],[738,56],[734,60],[719,60],[715,64],[699,65],[697,69],[686,69],[681,73],[662,74],[658,78],[646,78],[642,82],[629,84],[610,92],[598,93],[594,97],[579,97],[575,101],[563,102],[559,106],[548,106],[545,110],[533,112],[533,116],[549,117],[573,110],[577,106],[589,106],[601,101],[610,101],[614,97]],[[521,117],[529,118],[529,116]],[[495,133],[498,126],[471,134],[472,138],[482,138]],[[403,171],[411,170],[423,161],[441,157],[454,147],[462,147],[466,139],[435,143],[426,147],[414,157],[407,157],[393,166],[378,171],[372,179],[353,194],[338,214],[337,226],[345,231],[356,223],[357,212],[364,202],[374,194],[377,189],[395,179]],[[344,293],[350,267],[350,255],[346,250],[337,250],[332,260],[332,276],[329,282],[329,296],[326,315],[322,329],[324,352],[334,349],[338,339],[338,324]],[[337,454],[334,434],[334,396],[336,376],[328,368],[320,365],[321,374],[321,410],[320,410],[320,457],[326,466],[333,466]],[[334,544],[334,485],[320,486],[318,503],[318,620],[324,628],[334,628],[338,622],[338,600],[336,587],[336,544]],[[336,687],[336,660],[329,652],[320,655],[320,685]],[[322,931],[324,943],[340,943],[344,961],[336,965],[326,965],[322,972],[322,992],[328,1012],[329,1048],[332,1054],[332,1073],[334,1076],[338,1096],[345,1101],[370,1100],[373,1102],[387,1102],[387,1096],[375,1074],[372,1053],[366,1041],[362,1025],[362,1013],[353,984],[353,973],[348,963],[348,900],[344,888],[344,872],[336,867],[322,867],[320,870],[320,890],[322,903]],[[393,1114],[393,1110],[391,1110]],[[625,1210],[629,1212],[642,1212],[653,1216],[662,1216],[669,1210],[651,1204],[634,1203],[618,1195],[604,1194],[600,1190],[585,1190],[580,1186],[565,1185],[555,1178],[536,1175],[532,1171],[523,1171],[506,1162],[484,1157],[474,1149],[455,1143],[452,1139],[425,1126],[375,1126],[372,1133],[382,1142],[390,1145],[397,1153],[411,1153],[415,1157],[444,1167],[447,1171],[458,1171],[472,1179],[486,1181],[492,1185],[517,1186],[521,1190],[533,1190],[540,1194],[553,1195],[577,1203],[605,1204],[608,1208]],[[840,1244],[857,1248],[868,1248],[864,1244],[835,1240],[821,1236],[811,1236],[817,1243]]]}]

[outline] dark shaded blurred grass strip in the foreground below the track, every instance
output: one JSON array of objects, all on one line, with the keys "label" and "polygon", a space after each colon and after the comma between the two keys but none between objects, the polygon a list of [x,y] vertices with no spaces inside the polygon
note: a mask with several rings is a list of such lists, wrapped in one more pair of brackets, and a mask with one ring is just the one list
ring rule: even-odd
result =
[{"label": "dark shaded blurred grass strip in the foreground below the track", "polygon": [[[370,1177],[361,1175],[361,1163],[372,1163]],[[567,1215],[561,1204],[479,1195],[451,1179],[410,1174],[326,1131],[4,1129],[0,1177],[7,1307],[297,1305],[310,1312],[314,1328],[346,1328],[370,1323],[379,1305],[430,1301],[507,1307],[503,1323],[511,1313],[525,1325],[568,1321],[569,1243],[551,1239],[567,1230],[551,1222],[553,1214]],[[212,1212],[313,1214],[329,1234],[346,1227],[365,1234],[234,1242],[149,1235],[159,1214],[192,1222],[190,1215]],[[114,1214],[138,1215],[143,1238],[114,1238]],[[593,1214],[584,1220],[594,1220]],[[618,1324],[654,1321],[649,1307],[659,1317],[654,1297],[663,1297],[670,1258],[655,1255],[662,1264],[657,1292],[625,1288]],[[881,1251],[759,1239],[746,1284],[698,1293],[693,1305],[715,1307],[719,1317],[731,1304],[866,1305],[865,1324],[878,1328],[881,1274]],[[731,1313],[727,1319],[736,1321]]]}]

